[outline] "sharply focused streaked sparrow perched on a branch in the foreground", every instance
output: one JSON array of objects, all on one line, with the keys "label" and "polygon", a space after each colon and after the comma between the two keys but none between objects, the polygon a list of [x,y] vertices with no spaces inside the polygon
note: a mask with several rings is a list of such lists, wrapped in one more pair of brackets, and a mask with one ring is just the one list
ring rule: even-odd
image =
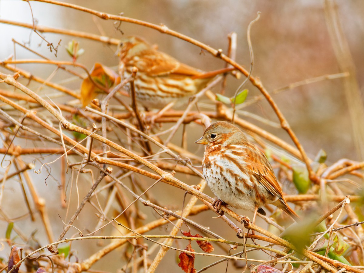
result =
[{"label": "sharply focused streaked sparrow perched on a branch in the foreground", "polygon": [[[261,206],[272,204],[295,221],[298,215],[288,206],[268,159],[243,131],[225,121],[211,124],[195,143],[205,145],[202,169],[207,185],[221,203],[254,211],[253,222]],[[263,211],[262,211],[263,212]]]}]

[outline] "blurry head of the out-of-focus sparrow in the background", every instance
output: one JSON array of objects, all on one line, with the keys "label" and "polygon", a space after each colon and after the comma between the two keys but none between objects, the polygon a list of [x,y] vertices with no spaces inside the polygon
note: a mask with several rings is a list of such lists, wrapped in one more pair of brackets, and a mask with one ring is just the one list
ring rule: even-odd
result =
[{"label": "blurry head of the out-of-focus sparrow in the background", "polygon": [[150,48],[151,46],[142,38],[130,36],[120,40],[116,54],[120,58],[130,58]]}]

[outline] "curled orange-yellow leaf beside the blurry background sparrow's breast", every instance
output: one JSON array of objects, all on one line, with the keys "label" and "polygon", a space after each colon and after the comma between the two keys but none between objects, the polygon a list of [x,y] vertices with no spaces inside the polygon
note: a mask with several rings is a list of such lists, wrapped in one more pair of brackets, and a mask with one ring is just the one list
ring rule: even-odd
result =
[{"label": "curled orange-yellow leaf beside the blurry background sparrow's breast", "polygon": [[[91,68],[90,76],[92,80],[98,83],[100,86],[109,89],[114,84],[120,83],[120,77],[107,66],[103,66],[100,63],[95,63]],[[82,106],[87,106],[94,98],[96,98],[97,93],[102,91],[97,87],[90,78],[83,80],[81,84],[81,102]]]}]

